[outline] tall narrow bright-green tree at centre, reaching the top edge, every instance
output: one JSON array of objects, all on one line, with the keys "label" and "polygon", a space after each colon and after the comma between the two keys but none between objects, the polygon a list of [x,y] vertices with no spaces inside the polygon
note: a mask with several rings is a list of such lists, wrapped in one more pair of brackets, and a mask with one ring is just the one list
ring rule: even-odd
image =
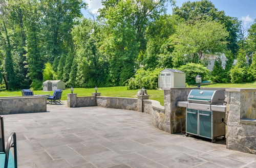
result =
[{"label": "tall narrow bright-green tree at centre, reaching the top edge", "polygon": [[105,15],[109,26],[109,37],[103,46],[109,55],[112,86],[124,85],[124,81],[134,75],[135,60],[139,53],[139,42],[136,40],[136,30],[131,18],[134,4],[131,0],[120,1],[114,8],[110,8]]}]

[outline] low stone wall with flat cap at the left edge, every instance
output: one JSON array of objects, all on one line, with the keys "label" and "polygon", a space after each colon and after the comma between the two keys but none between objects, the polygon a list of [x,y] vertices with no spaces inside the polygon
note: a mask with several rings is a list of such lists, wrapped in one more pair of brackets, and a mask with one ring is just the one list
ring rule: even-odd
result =
[{"label": "low stone wall with flat cap at the left edge", "polygon": [[0,115],[45,112],[46,99],[40,96],[0,97]]}]

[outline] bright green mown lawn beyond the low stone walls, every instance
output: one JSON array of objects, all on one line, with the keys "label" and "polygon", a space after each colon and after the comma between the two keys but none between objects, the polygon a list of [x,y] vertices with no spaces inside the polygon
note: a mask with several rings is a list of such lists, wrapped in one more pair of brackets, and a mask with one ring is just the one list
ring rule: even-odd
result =
[{"label": "bright green mown lawn beyond the low stone walls", "polygon": [[[195,86],[190,86],[195,87]],[[250,83],[216,83],[211,85],[206,85],[202,87],[216,87],[216,88],[256,88],[256,82]],[[74,93],[77,93],[77,96],[91,96],[95,92],[94,88],[74,88]],[[101,93],[101,96],[111,96],[111,97],[134,97],[138,90],[127,90],[126,87],[109,87],[109,88],[98,88],[98,92]],[[70,89],[64,90],[62,93],[61,100],[67,100],[67,93],[71,93]],[[53,94],[52,92],[43,92],[43,91],[34,91],[34,94]],[[163,91],[162,90],[147,90],[147,94],[151,95],[150,99],[157,100],[163,105]],[[22,96],[22,92],[18,91],[3,91],[0,92],[0,97],[5,96]]]}]

